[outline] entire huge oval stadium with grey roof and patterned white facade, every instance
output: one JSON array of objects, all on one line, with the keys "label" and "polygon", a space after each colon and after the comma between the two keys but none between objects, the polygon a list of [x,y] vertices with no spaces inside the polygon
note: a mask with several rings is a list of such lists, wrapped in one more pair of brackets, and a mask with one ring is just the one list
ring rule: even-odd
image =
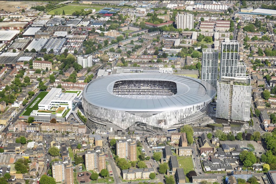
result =
[{"label": "entire huge oval stadium with grey roof and patterned white facade", "polygon": [[91,121],[156,132],[199,120],[215,95],[215,88],[199,79],[128,73],[93,80],[84,88],[82,101]]}]

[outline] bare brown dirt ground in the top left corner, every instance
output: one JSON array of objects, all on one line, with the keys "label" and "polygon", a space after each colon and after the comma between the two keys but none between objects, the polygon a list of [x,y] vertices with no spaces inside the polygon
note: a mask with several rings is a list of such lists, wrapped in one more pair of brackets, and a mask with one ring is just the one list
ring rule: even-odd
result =
[{"label": "bare brown dirt ground in the top left corner", "polygon": [[44,4],[44,2],[0,1],[0,10],[4,9],[6,11],[15,12],[19,9],[31,8],[32,6],[41,6]]}]

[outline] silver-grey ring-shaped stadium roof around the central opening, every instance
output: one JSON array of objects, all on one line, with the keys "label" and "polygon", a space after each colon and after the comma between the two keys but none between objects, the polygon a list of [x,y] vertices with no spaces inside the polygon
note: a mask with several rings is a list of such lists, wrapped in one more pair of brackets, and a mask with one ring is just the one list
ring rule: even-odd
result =
[{"label": "silver-grey ring-shaped stadium roof around the central opening", "polygon": [[[113,85],[119,80],[162,80],[173,81],[177,85],[177,93],[156,99],[125,98],[112,94]],[[216,95],[215,88],[209,83],[185,76],[168,74],[127,73],[100,77],[92,80],[84,88],[83,97],[97,107],[123,111],[163,112],[187,106],[210,102]]]}]

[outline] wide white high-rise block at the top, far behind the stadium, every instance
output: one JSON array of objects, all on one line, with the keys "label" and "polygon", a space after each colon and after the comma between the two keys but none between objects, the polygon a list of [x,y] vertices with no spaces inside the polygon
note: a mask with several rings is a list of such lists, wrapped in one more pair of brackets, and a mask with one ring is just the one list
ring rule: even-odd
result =
[{"label": "wide white high-rise block at the top, far behind the stadium", "polygon": [[193,29],[193,14],[184,13],[176,15],[177,29]]}]

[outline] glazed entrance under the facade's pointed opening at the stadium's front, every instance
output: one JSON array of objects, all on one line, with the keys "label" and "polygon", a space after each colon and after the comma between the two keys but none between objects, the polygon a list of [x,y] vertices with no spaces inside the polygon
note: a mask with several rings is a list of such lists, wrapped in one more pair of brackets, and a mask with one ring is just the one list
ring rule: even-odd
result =
[{"label": "glazed entrance under the facade's pointed opening at the stadium's front", "polygon": [[127,128],[127,131],[134,132],[134,134],[163,134],[166,133],[166,130],[156,126],[150,126],[146,123],[136,122],[130,127]]}]

